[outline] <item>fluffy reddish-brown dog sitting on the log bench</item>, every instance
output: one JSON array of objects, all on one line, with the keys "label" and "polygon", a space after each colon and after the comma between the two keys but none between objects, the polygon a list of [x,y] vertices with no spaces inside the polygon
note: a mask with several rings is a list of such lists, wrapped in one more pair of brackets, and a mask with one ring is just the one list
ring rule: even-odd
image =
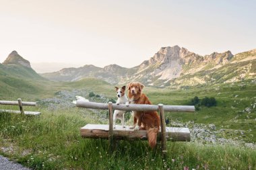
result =
[{"label": "fluffy reddish-brown dog sitting on the log bench", "polygon": [[[142,93],[144,85],[138,82],[129,83],[128,87],[128,98],[129,103],[134,104],[151,104],[148,97]],[[131,128],[135,130],[146,129],[148,133],[148,142],[151,148],[156,146],[156,138],[160,126],[160,118],[157,112],[139,112],[133,111],[134,122]]]}]

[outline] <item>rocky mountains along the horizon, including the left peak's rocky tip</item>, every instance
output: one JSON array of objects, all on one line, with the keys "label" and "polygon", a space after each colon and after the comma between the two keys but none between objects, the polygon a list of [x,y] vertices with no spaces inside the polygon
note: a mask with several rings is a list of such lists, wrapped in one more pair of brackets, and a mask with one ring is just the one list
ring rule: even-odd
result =
[{"label": "rocky mountains along the horizon, including the left peak's rocky tip", "polygon": [[[8,62],[3,65],[22,65],[28,67],[28,60],[11,60],[17,58],[18,52],[11,52]],[[27,62],[26,62],[27,61]],[[30,66],[30,65],[29,65]],[[31,67],[30,67],[31,68]],[[199,55],[179,46],[160,48],[151,58],[144,60],[140,65],[125,68],[119,65],[96,67],[64,68],[52,73],[42,73],[42,77],[51,81],[79,81],[84,78],[102,79],[110,84],[125,84],[130,81],[140,81],[145,85],[158,87],[184,87],[208,83],[227,83],[254,79],[256,75],[256,49],[247,52],[232,54],[226,52],[212,52]]]}]

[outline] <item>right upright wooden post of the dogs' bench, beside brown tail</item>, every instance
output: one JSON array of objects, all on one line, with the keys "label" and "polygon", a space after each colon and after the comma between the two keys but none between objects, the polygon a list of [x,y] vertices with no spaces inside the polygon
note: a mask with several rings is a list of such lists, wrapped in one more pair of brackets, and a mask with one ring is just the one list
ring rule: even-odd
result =
[{"label": "right upright wooden post of the dogs' bench, beside brown tail", "polygon": [[161,147],[162,147],[162,154],[166,157],[166,127],[165,127],[165,118],[164,118],[164,105],[158,104],[158,109],[160,112],[160,123],[161,123]]}]

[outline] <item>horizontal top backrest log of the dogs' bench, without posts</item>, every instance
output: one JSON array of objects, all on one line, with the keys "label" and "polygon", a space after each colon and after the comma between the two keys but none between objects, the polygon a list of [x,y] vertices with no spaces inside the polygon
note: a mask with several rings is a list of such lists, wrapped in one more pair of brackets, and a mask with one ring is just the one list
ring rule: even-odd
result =
[{"label": "horizontal top backrest log of the dogs' bench, without posts", "polygon": [[[108,103],[96,103],[90,101],[84,101],[78,99],[76,101],[76,106],[78,108],[90,108],[90,109],[100,109],[108,110]],[[114,110],[127,110],[127,111],[158,111],[158,105],[146,105],[146,104],[125,104],[113,103]],[[164,105],[164,111],[166,112],[195,112],[195,106],[193,105]]]}]

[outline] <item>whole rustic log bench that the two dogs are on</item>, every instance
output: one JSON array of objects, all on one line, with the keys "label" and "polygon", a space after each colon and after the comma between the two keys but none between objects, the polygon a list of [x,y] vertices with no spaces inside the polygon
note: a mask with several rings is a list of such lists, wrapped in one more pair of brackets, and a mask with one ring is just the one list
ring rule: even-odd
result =
[{"label": "whole rustic log bench that the two dogs are on", "polygon": [[164,111],[166,112],[195,112],[193,105],[146,105],[146,104],[124,104],[95,103],[84,100],[77,100],[76,106],[79,108],[91,108],[98,110],[108,110],[109,124],[86,124],[80,129],[80,134],[84,138],[105,138],[108,139],[110,148],[113,147],[113,140],[147,140],[146,130],[131,130],[117,125],[113,129],[113,110],[127,111],[159,111],[160,131],[158,139],[161,140],[162,152],[166,153],[166,141],[190,141],[189,128],[172,128],[165,126]]}]

